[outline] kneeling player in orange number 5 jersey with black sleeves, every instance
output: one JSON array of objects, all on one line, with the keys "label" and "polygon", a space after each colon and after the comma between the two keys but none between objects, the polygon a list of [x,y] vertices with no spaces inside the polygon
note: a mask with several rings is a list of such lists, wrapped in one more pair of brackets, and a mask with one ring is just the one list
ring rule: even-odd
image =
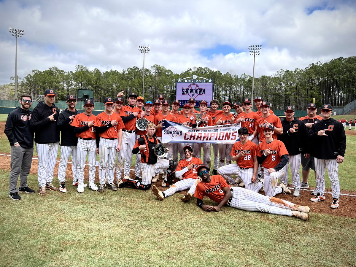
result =
[{"label": "kneeling player in orange number 5 jersey with black sleeves", "polygon": [[282,192],[292,194],[283,183],[277,187],[278,179],[283,176],[283,167],[288,162],[288,151],[282,141],[273,138],[273,133],[273,126],[263,127],[265,140],[258,145],[260,155],[257,156],[258,163],[263,166],[265,195],[269,197]]}]

